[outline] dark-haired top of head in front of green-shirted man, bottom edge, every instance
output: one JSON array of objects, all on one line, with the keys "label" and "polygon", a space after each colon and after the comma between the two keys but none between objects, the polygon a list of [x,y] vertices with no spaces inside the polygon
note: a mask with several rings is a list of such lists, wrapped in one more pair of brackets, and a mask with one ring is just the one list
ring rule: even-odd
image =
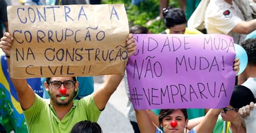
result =
[{"label": "dark-haired top of head in front of green-shirted man, bottom edge", "polygon": [[97,122],[80,121],[74,125],[71,133],[102,133],[102,128]]}]

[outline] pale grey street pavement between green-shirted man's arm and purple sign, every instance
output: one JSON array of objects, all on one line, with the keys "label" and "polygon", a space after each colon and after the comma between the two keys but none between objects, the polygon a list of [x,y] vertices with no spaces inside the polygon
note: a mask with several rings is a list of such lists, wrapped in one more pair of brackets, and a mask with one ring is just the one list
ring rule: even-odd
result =
[{"label": "pale grey street pavement between green-shirted man's arm and purple sign", "polygon": [[[104,76],[102,76],[104,77]],[[97,83],[95,78],[95,89],[102,83]],[[109,103],[99,117],[98,124],[105,133],[130,133],[134,132],[130,121],[126,117],[126,105],[128,97],[125,93],[124,80],[118,86],[116,92],[110,97]]]}]

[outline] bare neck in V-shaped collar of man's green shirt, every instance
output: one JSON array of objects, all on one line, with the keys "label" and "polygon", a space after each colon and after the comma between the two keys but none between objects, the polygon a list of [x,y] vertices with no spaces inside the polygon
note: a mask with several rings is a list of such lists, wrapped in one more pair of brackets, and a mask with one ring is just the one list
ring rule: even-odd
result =
[{"label": "bare neck in V-shaped collar of man's green shirt", "polygon": [[[53,102],[51,102],[51,103],[53,103]],[[57,114],[57,116],[58,116],[58,118],[59,118],[59,120],[60,121],[62,121],[62,119],[64,118],[64,116],[66,115],[66,114],[68,114],[69,113],[69,111],[70,111],[70,109],[73,107],[73,102],[71,102],[69,105],[67,105],[67,106],[58,106],[57,104],[52,104],[52,107],[53,107],[53,109],[55,110],[55,112],[56,112],[56,114]]]}]

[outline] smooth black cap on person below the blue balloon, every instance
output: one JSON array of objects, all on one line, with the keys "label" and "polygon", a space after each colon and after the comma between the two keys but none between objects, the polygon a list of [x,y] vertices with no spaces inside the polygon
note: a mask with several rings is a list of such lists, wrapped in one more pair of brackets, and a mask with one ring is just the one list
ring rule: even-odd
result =
[{"label": "smooth black cap on person below the blue balloon", "polygon": [[249,88],[245,86],[235,86],[231,96],[230,106],[239,109],[254,101],[254,95]]}]

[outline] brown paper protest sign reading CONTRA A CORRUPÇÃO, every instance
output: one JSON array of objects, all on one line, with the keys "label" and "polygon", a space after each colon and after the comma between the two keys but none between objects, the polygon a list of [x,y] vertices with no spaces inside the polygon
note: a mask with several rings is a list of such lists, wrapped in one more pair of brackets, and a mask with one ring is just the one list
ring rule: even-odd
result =
[{"label": "brown paper protest sign reading CONTRA A CORRUP\u00c7\u00c3O", "polygon": [[123,4],[8,6],[12,78],[124,74]]}]

